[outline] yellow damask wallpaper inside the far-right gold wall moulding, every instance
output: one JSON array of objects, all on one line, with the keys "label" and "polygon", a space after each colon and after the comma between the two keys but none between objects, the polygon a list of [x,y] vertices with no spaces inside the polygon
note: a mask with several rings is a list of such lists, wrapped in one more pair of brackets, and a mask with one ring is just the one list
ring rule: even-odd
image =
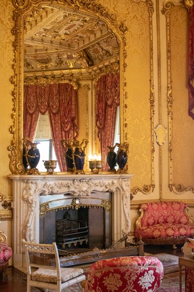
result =
[{"label": "yellow damask wallpaper inside the far-right gold wall moulding", "polygon": [[[171,10],[173,80],[173,181],[194,186],[194,120],[188,115],[188,12]],[[178,60],[178,61],[177,61]]]}]

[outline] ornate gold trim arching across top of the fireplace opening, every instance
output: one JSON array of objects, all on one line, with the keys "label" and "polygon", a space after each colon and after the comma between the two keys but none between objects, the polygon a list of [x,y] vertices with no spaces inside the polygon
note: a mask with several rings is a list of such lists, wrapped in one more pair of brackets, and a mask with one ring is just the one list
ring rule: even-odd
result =
[{"label": "ornate gold trim arching across top of the fireplace opening", "polygon": [[[82,197],[81,199],[84,199],[84,197]],[[87,198],[88,199],[88,198]],[[105,209],[106,211],[110,211],[111,210],[111,202],[109,200],[106,199],[99,199],[99,198],[92,198],[95,200],[100,200],[100,204],[84,204],[81,203],[81,200],[78,198],[73,198],[71,204],[69,205],[62,205],[62,206],[57,206],[57,207],[50,207],[49,203],[53,202],[53,201],[49,201],[46,203],[42,203],[40,204],[40,217],[44,217],[45,214],[47,212],[52,212],[52,211],[56,211],[56,210],[64,210],[64,209],[76,209],[78,210],[79,208],[83,207],[83,208],[100,208],[100,209]],[[60,200],[55,200],[56,201],[60,201]]]}]

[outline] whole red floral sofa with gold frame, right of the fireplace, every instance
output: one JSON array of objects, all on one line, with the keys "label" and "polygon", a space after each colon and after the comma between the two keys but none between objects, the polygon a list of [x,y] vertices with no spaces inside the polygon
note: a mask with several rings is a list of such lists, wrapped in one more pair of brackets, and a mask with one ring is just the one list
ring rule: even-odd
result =
[{"label": "whole red floral sofa with gold frame, right of the fireplace", "polygon": [[183,202],[144,203],[136,220],[135,237],[147,244],[184,243],[186,237],[194,237],[194,218]]}]

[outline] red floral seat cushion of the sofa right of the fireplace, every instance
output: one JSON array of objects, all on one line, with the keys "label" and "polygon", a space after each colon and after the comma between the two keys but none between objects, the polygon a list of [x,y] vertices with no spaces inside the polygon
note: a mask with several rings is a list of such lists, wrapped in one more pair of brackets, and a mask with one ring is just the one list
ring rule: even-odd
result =
[{"label": "red floral seat cushion of the sofa right of the fireplace", "polygon": [[135,231],[137,238],[146,239],[176,239],[194,236],[194,227],[185,224],[156,224],[153,226],[138,227]]}]

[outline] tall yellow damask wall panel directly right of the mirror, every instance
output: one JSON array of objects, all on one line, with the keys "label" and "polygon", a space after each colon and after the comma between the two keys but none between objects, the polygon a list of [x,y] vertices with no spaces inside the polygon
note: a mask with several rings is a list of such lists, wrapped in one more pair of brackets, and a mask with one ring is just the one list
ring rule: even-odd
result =
[{"label": "tall yellow damask wall panel directly right of the mirror", "polygon": [[[153,177],[154,91],[152,62],[152,2],[131,1],[128,15],[129,101],[126,118],[129,125],[129,172],[132,193],[149,193]],[[151,121],[151,124],[150,124]]]}]

